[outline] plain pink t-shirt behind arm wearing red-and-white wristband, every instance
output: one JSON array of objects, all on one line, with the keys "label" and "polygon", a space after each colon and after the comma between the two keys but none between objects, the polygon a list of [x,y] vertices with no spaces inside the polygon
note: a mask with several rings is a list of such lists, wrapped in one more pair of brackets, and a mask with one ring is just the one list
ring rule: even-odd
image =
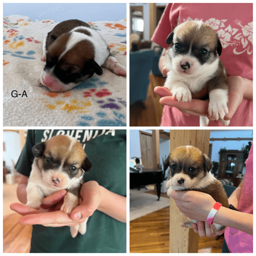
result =
[{"label": "plain pink t-shirt behind arm wearing red-and-white wristband", "polygon": [[[253,214],[253,144],[246,160],[245,180],[238,211]],[[225,241],[232,253],[252,253],[253,236],[240,230],[227,227],[224,232]]]}]

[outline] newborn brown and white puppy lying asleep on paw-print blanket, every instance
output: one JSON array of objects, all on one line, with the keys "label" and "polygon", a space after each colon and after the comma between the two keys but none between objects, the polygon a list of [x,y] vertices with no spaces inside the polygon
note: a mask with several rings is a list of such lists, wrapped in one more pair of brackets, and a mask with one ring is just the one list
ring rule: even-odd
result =
[{"label": "newborn brown and white puppy lying asleep on paw-print blanket", "polygon": [[38,83],[53,92],[71,90],[94,73],[102,75],[102,66],[126,75],[100,33],[80,20],[60,22],[48,33],[41,60],[46,64]]}]

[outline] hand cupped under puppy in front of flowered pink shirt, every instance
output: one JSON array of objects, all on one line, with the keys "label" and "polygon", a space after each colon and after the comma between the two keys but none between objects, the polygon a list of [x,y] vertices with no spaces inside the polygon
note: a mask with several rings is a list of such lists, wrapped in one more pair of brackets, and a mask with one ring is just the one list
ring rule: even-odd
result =
[{"label": "hand cupped under puppy in front of flowered pink shirt", "polygon": [[[162,74],[167,76],[167,73],[168,70],[164,67]],[[232,118],[244,96],[244,79],[242,77],[228,76],[228,85],[228,113],[224,116],[224,120],[230,120]],[[200,98],[207,94],[206,89],[203,89],[197,94],[192,94],[192,100],[190,102],[177,101],[172,97],[172,93],[166,87],[157,86],[154,88],[154,92],[161,96],[160,104],[176,107],[185,114],[207,116],[208,119],[214,120],[214,117],[209,117],[208,115],[209,100],[200,100]]]}]

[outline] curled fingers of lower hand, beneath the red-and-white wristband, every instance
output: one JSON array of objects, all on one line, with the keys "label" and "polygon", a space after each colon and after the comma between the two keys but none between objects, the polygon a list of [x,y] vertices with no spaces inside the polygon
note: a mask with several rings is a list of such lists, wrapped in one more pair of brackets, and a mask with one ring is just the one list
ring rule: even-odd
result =
[{"label": "curled fingers of lower hand, beneath the red-and-white wristband", "polygon": [[199,221],[197,224],[193,223],[192,224],[193,230],[199,234],[201,237],[214,237],[214,236],[219,236],[222,235],[225,231],[225,228],[221,231],[217,231],[215,229],[214,224],[210,225],[207,222]]}]

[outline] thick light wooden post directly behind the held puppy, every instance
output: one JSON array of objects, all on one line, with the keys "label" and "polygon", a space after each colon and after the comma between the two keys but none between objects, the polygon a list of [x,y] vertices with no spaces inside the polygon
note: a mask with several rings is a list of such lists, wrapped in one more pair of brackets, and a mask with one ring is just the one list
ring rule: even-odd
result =
[{"label": "thick light wooden post directly behind the held puppy", "polygon": [[[170,130],[170,151],[179,146],[191,145],[208,155],[210,130]],[[170,197],[170,253],[197,253],[199,235],[192,228],[184,228],[180,223],[188,220],[179,211]]]}]

